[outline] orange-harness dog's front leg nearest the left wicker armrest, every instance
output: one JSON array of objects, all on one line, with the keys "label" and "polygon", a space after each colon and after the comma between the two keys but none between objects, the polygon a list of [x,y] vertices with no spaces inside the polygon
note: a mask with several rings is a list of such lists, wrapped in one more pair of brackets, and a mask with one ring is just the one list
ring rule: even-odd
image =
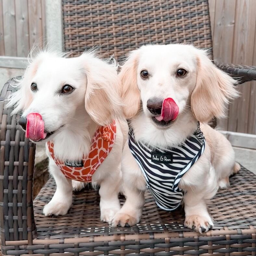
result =
[{"label": "orange-harness dog's front leg nearest the left wicker armrest", "polygon": [[51,201],[45,205],[43,213],[49,215],[65,215],[72,204],[72,183],[59,170],[50,158],[49,172],[53,175],[57,188]]}]

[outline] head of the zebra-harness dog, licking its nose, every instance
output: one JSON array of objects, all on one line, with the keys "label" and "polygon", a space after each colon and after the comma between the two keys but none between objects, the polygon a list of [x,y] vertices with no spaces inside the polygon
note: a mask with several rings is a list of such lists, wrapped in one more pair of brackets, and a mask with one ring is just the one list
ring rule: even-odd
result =
[{"label": "head of the zebra-harness dog, licking its nose", "polygon": [[130,53],[119,77],[126,118],[142,108],[158,127],[169,127],[187,111],[200,122],[224,117],[238,95],[236,81],[192,45],[142,46]]}]

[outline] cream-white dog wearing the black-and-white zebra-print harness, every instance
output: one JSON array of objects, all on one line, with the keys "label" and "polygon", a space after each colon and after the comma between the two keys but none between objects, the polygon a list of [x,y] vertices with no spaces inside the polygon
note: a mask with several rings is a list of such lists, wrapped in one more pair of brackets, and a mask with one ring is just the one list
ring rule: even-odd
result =
[{"label": "cream-white dog wearing the black-and-white zebra-print harness", "polygon": [[112,225],[139,222],[148,188],[162,209],[174,210],[183,200],[185,225],[208,231],[207,200],[240,166],[228,140],[206,123],[225,115],[238,95],[235,81],[206,51],[178,44],[131,52],[119,77],[131,129],[122,158],[126,201]]}]

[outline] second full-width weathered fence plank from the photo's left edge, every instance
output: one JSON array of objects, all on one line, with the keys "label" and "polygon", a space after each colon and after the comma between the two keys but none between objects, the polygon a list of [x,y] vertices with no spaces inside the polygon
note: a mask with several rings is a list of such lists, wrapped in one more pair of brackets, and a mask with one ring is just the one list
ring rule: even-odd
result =
[{"label": "second full-width weathered fence plank from the photo's left edge", "polygon": [[17,56],[27,57],[29,52],[28,0],[15,0]]}]

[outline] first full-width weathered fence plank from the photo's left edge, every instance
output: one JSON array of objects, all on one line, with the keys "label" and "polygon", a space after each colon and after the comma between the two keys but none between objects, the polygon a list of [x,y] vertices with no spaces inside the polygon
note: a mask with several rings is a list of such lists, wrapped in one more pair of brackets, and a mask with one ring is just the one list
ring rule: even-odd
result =
[{"label": "first full-width weathered fence plank from the photo's left edge", "polygon": [[5,55],[17,56],[14,0],[3,0]]}]

